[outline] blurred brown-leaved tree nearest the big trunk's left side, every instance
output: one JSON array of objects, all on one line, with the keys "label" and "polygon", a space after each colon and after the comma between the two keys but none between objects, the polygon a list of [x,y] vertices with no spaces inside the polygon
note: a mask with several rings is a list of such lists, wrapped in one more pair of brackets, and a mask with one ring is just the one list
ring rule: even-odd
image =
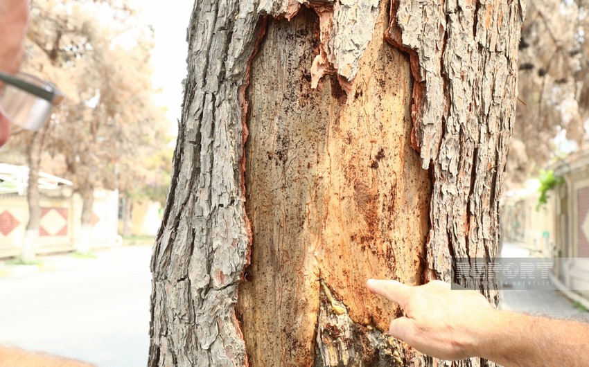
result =
[{"label": "blurred brown-leaved tree nearest the big trunk's left side", "polygon": [[[83,200],[80,252],[89,251],[94,189],[118,189],[126,177],[140,179],[145,154],[155,154],[166,143],[168,120],[152,100],[149,34],[134,36],[132,46],[117,44],[117,37],[125,42],[121,38],[130,31],[137,28],[95,25],[91,53],[77,70],[71,114],[53,130],[53,148],[67,157]],[[142,186],[141,181],[134,185]]]}]

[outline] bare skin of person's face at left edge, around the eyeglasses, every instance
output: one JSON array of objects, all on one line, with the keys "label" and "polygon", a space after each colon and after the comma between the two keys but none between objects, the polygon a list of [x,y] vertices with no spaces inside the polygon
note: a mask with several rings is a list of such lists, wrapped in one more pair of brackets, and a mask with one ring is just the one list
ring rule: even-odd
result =
[{"label": "bare skin of person's face at left edge, around the eyeglasses", "polygon": [[[19,71],[27,22],[28,0],[0,0],[0,71],[8,74]],[[10,135],[9,121],[0,111],[0,146]]]}]

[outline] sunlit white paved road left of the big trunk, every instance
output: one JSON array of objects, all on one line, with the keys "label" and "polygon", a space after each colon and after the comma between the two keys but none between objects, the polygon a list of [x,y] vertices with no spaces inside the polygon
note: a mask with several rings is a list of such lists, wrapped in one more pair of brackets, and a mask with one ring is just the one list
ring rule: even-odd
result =
[{"label": "sunlit white paved road left of the big trunk", "polygon": [[73,269],[0,278],[0,344],[146,366],[150,247],[121,247]]}]

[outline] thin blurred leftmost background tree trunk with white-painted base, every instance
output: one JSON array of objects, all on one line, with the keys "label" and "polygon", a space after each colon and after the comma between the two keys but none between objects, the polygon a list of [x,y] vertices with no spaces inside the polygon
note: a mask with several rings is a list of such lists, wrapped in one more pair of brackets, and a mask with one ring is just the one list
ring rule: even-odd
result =
[{"label": "thin blurred leftmost background tree trunk with white-painted base", "polygon": [[[48,124],[45,124],[48,125]],[[37,251],[37,238],[39,237],[39,224],[41,222],[41,206],[39,204],[39,163],[41,163],[41,150],[46,126],[33,134],[33,139],[28,147],[28,187],[26,199],[28,203],[28,222],[24,232],[21,260],[30,262],[35,260]]]}]

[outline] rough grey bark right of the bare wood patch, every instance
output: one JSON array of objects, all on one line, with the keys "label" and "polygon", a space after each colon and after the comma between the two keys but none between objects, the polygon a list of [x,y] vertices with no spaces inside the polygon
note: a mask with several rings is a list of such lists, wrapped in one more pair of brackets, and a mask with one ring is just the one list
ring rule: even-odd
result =
[{"label": "rough grey bark right of the bare wood patch", "polygon": [[434,172],[432,278],[450,281],[452,258],[496,255],[525,3],[392,3],[387,37],[411,55],[414,143]]}]

